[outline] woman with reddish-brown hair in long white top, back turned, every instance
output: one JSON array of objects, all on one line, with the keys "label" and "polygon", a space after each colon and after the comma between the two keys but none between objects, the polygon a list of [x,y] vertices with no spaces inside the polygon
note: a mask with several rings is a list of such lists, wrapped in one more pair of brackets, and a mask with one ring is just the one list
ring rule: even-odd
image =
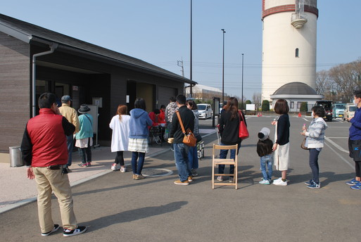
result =
[{"label": "woman with reddish-brown hair in long white top, back turned", "polygon": [[115,161],[111,167],[111,170],[113,171],[127,171],[123,158],[124,151],[128,151],[129,143],[130,116],[127,115],[127,110],[127,106],[119,105],[117,115],[112,118],[109,124],[110,129],[113,129],[111,151],[117,153]]}]

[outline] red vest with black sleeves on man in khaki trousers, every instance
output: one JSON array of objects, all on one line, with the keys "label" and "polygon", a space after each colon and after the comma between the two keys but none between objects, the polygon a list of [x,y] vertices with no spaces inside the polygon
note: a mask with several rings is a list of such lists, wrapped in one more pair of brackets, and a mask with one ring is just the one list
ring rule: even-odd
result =
[{"label": "red vest with black sleeves on man in khaki trousers", "polygon": [[48,167],[68,163],[66,136],[75,131],[62,115],[56,115],[50,108],[41,108],[39,115],[27,122],[21,143],[26,165]]}]

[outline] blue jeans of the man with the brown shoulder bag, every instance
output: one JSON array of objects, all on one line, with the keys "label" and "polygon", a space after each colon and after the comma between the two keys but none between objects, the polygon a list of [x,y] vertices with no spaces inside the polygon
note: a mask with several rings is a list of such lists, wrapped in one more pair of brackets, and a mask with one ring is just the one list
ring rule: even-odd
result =
[{"label": "blue jeans of the man with the brown shoulder bag", "polygon": [[181,181],[188,180],[191,176],[191,164],[189,163],[188,153],[189,146],[185,144],[175,144],[175,166],[178,170],[179,179]]}]

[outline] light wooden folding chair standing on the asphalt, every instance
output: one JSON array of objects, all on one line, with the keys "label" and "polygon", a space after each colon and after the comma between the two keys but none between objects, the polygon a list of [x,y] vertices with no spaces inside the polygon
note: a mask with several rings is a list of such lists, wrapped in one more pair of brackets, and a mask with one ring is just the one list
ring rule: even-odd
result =
[{"label": "light wooden folding chair standing on the asphalt", "polygon": [[[234,146],[218,146],[216,144],[213,144],[213,156],[212,156],[212,189],[215,189],[215,185],[217,186],[235,186],[235,189],[238,189],[238,155],[236,153],[236,157],[233,159],[220,159],[215,158],[215,153],[220,153],[220,150],[229,150],[228,153],[231,152],[231,150],[236,149],[237,152],[238,144],[235,144]],[[234,165],[234,174],[215,174],[215,166],[216,165]],[[234,182],[216,182],[215,183],[215,176],[226,176],[226,177],[234,177]]]}]

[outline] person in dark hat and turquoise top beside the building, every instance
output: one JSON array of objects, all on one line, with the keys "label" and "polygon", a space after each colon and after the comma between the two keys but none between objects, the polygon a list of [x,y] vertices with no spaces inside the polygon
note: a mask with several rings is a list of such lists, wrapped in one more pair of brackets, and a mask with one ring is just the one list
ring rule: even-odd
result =
[{"label": "person in dark hat and turquoise top beside the building", "polygon": [[75,134],[75,146],[79,148],[82,158],[80,167],[91,166],[91,146],[93,146],[93,117],[88,113],[90,108],[87,104],[82,104],[77,110],[82,115],[79,116],[80,130]]}]

